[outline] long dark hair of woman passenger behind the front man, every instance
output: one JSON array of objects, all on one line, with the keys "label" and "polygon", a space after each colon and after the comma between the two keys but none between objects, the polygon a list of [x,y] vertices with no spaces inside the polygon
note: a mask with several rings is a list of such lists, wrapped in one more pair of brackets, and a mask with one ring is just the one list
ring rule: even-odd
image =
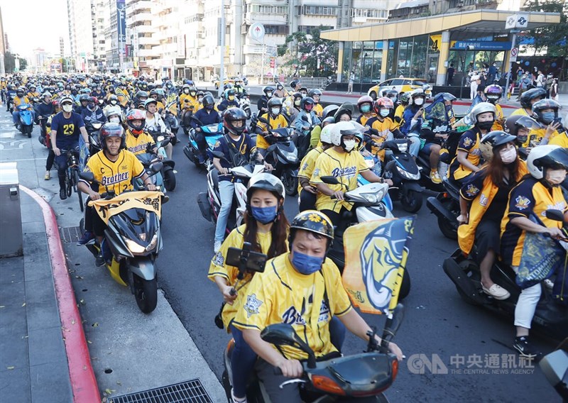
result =
[{"label": "long dark hair of woman passenger behind the front man", "polygon": [[[272,224],[271,234],[272,242],[270,248],[268,248],[268,258],[275,258],[278,255],[288,252],[288,228],[290,228],[290,223],[284,214],[284,200],[278,194],[274,194],[276,199],[278,199],[278,215],[274,223]],[[256,219],[249,213],[250,209],[246,209],[244,214],[244,223],[246,224],[244,229],[244,241],[249,242],[252,245],[252,249],[256,252],[262,253],[261,244],[258,243],[258,224]]]}]

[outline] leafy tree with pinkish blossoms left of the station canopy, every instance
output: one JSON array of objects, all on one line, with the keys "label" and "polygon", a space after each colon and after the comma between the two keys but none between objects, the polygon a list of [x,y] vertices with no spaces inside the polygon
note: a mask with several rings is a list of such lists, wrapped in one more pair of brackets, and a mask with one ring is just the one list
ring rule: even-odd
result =
[{"label": "leafy tree with pinkish blossoms left of the station canopy", "polygon": [[[310,35],[303,32],[288,35],[285,44],[278,47],[278,56],[283,57],[282,65],[289,70],[293,68],[295,72],[306,70],[305,74],[309,77],[335,74],[339,47],[334,40],[320,38],[322,28],[312,29]],[[290,46],[290,43],[294,45]]]}]

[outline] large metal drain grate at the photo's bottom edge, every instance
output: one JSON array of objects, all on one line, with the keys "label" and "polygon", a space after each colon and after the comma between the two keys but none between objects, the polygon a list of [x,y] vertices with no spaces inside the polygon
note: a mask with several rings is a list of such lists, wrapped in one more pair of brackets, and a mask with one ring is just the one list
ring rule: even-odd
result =
[{"label": "large metal drain grate at the photo's bottom edge", "polygon": [[212,403],[198,379],[112,397],[110,403]]}]

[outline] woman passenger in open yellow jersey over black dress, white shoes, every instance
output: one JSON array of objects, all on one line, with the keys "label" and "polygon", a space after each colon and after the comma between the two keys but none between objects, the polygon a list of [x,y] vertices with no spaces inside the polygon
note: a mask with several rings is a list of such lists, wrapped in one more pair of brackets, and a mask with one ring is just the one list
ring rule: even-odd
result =
[{"label": "woman passenger in open yellow jersey over black dress, white shoes", "polygon": [[518,157],[512,134],[491,131],[481,139],[481,148],[486,147],[490,148],[488,165],[472,175],[459,192],[458,242],[461,251],[469,254],[475,240],[483,291],[495,299],[507,299],[510,293],[491,280],[491,267],[501,250],[500,226],[508,194],[528,170]]}]

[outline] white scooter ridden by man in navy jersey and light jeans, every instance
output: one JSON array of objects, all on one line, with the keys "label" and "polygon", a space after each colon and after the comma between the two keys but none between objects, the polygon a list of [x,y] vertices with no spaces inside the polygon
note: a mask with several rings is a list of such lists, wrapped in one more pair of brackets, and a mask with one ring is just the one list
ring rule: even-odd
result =
[{"label": "white scooter ridden by man in navy jersey and light jeans", "polygon": [[[223,153],[213,151],[216,158],[224,158]],[[233,203],[231,204],[231,212],[229,220],[226,223],[226,235],[233,228],[240,226],[244,220],[246,211],[246,186],[249,184],[251,177],[264,172],[264,165],[253,163],[254,155],[251,155],[249,164],[231,168],[229,171],[236,177],[234,182],[235,191],[233,195]],[[217,225],[217,217],[221,211],[221,196],[219,194],[219,171],[213,165],[209,167],[207,172],[207,192],[197,194],[197,204],[204,219]]]}]

